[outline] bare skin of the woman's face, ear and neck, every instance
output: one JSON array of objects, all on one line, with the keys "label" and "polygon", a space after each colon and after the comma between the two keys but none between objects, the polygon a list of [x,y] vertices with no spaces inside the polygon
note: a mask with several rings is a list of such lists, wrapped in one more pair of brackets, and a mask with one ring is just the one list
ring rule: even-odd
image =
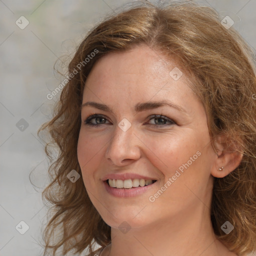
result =
[{"label": "bare skin of the woman's face, ear and neck", "polygon": [[[214,151],[203,105],[184,74],[178,80],[169,75],[174,67],[178,67],[174,61],[142,44],[103,56],[86,80],[82,103],[96,101],[113,109],[82,107],[77,145],[85,188],[111,226],[111,245],[103,256],[236,255],[216,239],[209,208],[213,176],[227,175],[238,166],[241,155]],[[169,106],[134,112],[136,103],[149,100],[169,100],[185,112]],[[83,121],[94,113],[105,119],[98,118],[96,127],[85,125]],[[175,123],[154,119],[153,114]],[[118,126],[123,118],[131,123],[126,131]],[[216,143],[221,139],[217,137]],[[149,201],[197,151],[200,156],[155,201]],[[223,171],[218,171],[221,166]],[[156,189],[129,198],[107,193],[102,177],[127,172],[156,177]],[[130,228],[126,233],[118,228],[123,221]]]}]

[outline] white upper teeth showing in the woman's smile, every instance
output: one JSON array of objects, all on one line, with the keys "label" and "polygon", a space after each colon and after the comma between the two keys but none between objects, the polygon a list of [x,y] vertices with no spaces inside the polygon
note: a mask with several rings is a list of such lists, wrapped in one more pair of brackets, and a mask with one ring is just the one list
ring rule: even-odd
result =
[{"label": "white upper teeth showing in the woman's smile", "polygon": [[111,187],[117,187],[117,188],[131,188],[131,187],[137,187],[137,186],[144,186],[144,185],[150,185],[153,183],[152,179],[143,179],[143,178],[134,178],[134,179],[108,179],[108,183]]}]

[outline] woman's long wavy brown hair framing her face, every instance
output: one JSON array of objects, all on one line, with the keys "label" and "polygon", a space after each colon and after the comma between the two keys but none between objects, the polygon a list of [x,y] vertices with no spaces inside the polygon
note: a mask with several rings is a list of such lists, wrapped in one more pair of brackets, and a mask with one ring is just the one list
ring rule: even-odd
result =
[{"label": "woman's long wavy brown hair framing her face", "polygon": [[[75,169],[81,175],[76,148],[86,77],[102,56],[137,44],[146,44],[169,59],[175,57],[204,105],[211,137],[224,134],[224,146],[235,144],[243,153],[236,169],[214,178],[211,221],[215,235],[229,250],[241,256],[256,248],[254,55],[242,37],[220,20],[214,9],[190,1],[157,6],[133,3],[107,16],[79,44],[68,65],[69,74],[74,69],[78,73],[62,89],[53,118],[38,130],[39,134],[45,129],[51,137],[45,146],[52,162],[51,182],[42,193],[52,214],[43,233],[44,255],[56,255],[60,248],[61,255],[71,250],[81,253],[85,248],[91,253],[95,243],[106,246],[111,242],[110,226],[92,205],[82,178],[72,183],[67,174]],[[55,159],[49,149],[52,143],[59,149]],[[234,226],[229,234],[220,228],[226,220]]]}]

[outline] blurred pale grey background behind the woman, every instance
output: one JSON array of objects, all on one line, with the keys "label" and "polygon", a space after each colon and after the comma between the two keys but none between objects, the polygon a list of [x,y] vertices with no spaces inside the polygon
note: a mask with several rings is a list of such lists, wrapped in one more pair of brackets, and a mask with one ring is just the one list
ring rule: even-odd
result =
[{"label": "blurred pale grey background behind the woman", "polygon": [[[48,160],[36,132],[50,118],[59,96],[47,98],[63,80],[54,74],[54,62],[60,58],[64,67],[88,29],[128,2],[0,0],[0,256],[43,251],[39,243],[46,207],[41,191],[47,183]],[[256,0],[199,2],[223,18],[229,16],[256,48]],[[38,188],[30,183],[31,171]]]}]

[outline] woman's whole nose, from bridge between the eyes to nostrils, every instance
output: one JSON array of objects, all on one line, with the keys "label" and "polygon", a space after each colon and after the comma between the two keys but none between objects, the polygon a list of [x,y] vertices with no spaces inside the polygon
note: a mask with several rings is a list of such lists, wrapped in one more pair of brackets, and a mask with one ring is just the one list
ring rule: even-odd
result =
[{"label": "woman's whole nose, from bridge between the eyes to nostrils", "polygon": [[140,152],[135,141],[134,127],[127,119],[122,119],[113,131],[105,157],[116,165],[122,164],[124,159],[138,159]]}]

